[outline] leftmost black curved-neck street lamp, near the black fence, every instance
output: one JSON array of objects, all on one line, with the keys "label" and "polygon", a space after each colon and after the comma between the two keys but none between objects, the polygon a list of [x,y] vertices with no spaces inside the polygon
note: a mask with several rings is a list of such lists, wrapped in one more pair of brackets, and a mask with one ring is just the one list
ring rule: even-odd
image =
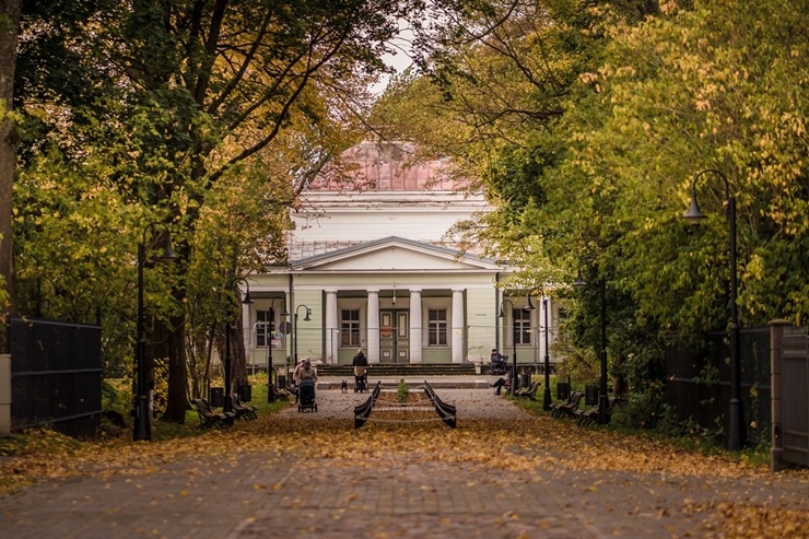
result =
[{"label": "leftmost black curved-neck street lamp, near the black fence", "polygon": [[177,255],[172,249],[172,238],[168,235],[168,225],[165,223],[149,223],[143,229],[143,238],[138,244],[138,341],[136,343],[134,361],[138,378],[138,392],[134,403],[134,431],[132,440],[152,440],[152,424],[149,417],[149,395],[146,389],[146,343],[143,336],[143,266],[146,261],[146,233],[153,226],[161,226],[165,230],[165,243],[163,254],[160,260],[176,260]]}]

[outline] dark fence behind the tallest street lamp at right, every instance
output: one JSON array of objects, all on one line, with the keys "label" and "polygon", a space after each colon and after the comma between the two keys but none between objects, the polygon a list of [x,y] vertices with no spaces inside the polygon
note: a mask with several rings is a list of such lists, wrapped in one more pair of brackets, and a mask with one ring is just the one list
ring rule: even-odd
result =
[{"label": "dark fence behind the tallest street lamp at right", "polygon": [[[755,445],[770,436],[770,329],[739,331],[741,401],[748,441]],[[730,347],[727,333],[706,336],[701,350],[666,350],[667,397],[679,419],[701,427],[728,432]]]}]

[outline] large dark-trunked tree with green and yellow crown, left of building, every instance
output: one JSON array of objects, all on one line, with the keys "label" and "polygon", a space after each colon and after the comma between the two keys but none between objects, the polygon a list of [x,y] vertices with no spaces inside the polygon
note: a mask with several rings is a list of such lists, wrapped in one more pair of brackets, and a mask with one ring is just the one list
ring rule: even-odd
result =
[{"label": "large dark-trunked tree with green and yellow crown, left of building", "polygon": [[[160,220],[169,226],[181,256],[172,270],[174,305],[165,305],[156,318],[162,327],[152,333],[162,343],[155,354],[169,359],[166,419],[185,418],[189,272],[197,265],[195,249],[204,246],[199,235],[204,209],[220,201],[216,186],[242,163],[269,161],[278,150],[273,141],[296,122],[348,127],[347,116],[332,106],[345,104],[348,110],[357,95],[362,103],[366,80],[382,69],[378,58],[397,30],[397,17],[418,5],[359,0],[97,2],[81,32],[59,40],[70,68],[86,73],[84,84],[67,79],[62,82],[69,84],[56,87],[55,74],[65,74],[57,66],[43,70],[35,62],[26,65],[21,97],[31,128],[26,162],[49,148],[71,168],[95,164],[98,181],[140,209],[129,215],[128,237]],[[54,33],[47,25],[30,32],[32,43],[47,42]],[[46,98],[25,98],[33,95]],[[312,131],[298,130],[302,137]],[[331,150],[323,147],[308,168],[321,166]],[[310,175],[306,168],[272,178],[296,183],[292,191],[278,192],[300,189]],[[281,202],[293,200],[290,196]],[[266,265],[275,253],[270,248],[261,261]],[[256,262],[219,260],[225,262],[225,276]]]}]

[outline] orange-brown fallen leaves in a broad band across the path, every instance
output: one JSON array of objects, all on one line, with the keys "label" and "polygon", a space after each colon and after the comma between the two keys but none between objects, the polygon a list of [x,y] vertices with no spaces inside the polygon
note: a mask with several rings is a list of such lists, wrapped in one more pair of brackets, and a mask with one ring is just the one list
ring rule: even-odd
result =
[{"label": "orange-brown fallen leaves in a broad band across the path", "polygon": [[[703,455],[648,437],[581,427],[572,421],[547,415],[520,421],[458,422],[448,429],[430,411],[383,412],[395,402],[380,401],[365,426],[354,430],[344,420],[306,420],[290,414],[262,415],[237,422],[228,430],[212,430],[198,436],[169,441],[130,442],[126,438],[75,444],[66,441],[63,454],[55,457],[51,443],[33,443],[25,455],[0,459],[0,493],[19,489],[38,478],[75,474],[160,473],[177,459],[197,459],[199,474],[238,467],[245,453],[266,456],[267,466],[289,460],[324,460],[330,467],[397,469],[408,461],[446,465],[466,464],[486,470],[517,471],[526,480],[548,480],[554,470],[608,470],[658,474],[664,478],[693,476],[706,484],[717,478],[769,481],[769,470],[727,455]],[[417,403],[417,407],[422,403]],[[413,415],[415,413],[415,415]],[[404,421],[423,419],[423,421]],[[385,421],[388,419],[388,421]],[[57,436],[44,433],[42,436]],[[33,440],[36,440],[34,436]],[[48,450],[45,449],[48,448]],[[357,456],[362,458],[357,458]],[[293,465],[294,466],[294,465]],[[809,491],[809,471],[792,472]],[[255,485],[277,489],[278,485]],[[601,488],[600,482],[589,489]],[[183,495],[183,493],[180,493]],[[683,496],[687,497],[687,496]],[[706,537],[796,537],[809,529],[806,507],[777,502],[746,504],[687,502],[683,512],[707,515]]]}]

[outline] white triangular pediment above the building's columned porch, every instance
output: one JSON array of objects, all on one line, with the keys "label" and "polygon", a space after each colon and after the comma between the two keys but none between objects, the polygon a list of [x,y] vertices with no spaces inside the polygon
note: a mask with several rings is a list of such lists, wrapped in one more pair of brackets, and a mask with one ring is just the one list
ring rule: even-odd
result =
[{"label": "white triangular pediment above the building's columned porch", "polygon": [[292,270],[314,271],[469,271],[502,269],[491,260],[444,247],[389,236],[292,262]]}]

